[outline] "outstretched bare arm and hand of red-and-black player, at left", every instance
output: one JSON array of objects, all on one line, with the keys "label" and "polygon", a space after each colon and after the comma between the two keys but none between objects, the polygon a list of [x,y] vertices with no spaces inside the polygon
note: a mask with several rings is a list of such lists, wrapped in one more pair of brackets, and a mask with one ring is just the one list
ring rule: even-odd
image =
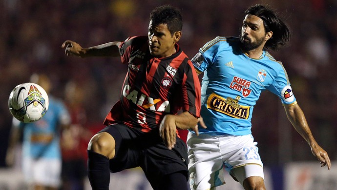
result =
[{"label": "outstretched bare arm and hand of red-and-black player, at left", "polygon": [[113,41],[89,48],[83,48],[80,44],[66,40],[62,44],[62,48],[65,48],[64,53],[67,56],[78,57],[118,57],[120,41]]}]

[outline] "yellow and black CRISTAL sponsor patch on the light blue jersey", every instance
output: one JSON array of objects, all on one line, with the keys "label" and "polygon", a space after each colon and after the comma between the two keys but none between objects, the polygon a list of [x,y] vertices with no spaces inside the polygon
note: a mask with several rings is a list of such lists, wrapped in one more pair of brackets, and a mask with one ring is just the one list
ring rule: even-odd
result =
[{"label": "yellow and black CRISTAL sponsor patch on the light blue jersey", "polygon": [[235,99],[231,97],[225,99],[212,93],[207,99],[207,108],[234,118],[248,119],[251,107],[239,105],[239,100],[240,96],[237,96]]}]

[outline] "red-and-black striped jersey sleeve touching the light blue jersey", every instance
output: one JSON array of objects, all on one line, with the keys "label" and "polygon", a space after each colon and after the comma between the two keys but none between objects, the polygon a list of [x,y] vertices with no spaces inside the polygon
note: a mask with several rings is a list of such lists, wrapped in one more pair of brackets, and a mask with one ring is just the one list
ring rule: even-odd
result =
[{"label": "red-and-black striped jersey sleeve touching the light blue jersey", "polygon": [[188,60],[187,67],[184,72],[182,92],[184,97],[183,111],[188,111],[190,114],[200,117],[200,81],[190,60]]}]

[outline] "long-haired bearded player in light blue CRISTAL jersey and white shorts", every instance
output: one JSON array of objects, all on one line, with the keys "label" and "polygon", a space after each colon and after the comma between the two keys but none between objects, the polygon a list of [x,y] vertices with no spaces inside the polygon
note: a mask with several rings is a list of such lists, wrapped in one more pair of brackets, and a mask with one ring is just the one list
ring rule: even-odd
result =
[{"label": "long-haired bearded player in light blue CRISTAL jersey and white shorts", "polygon": [[308,142],[321,167],[330,159],[313,137],[282,63],[267,49],[289,41],[286,24],[264,5],[248,8],[236,37],[216,37],[192,58],[201,87],[200,135],[188,134],[190,188],[215,189],[225,183],[223,167],[245,190],[264,190],[263,164],[253,140],[253,106],[264,90],[277,95],[295,130]]}]

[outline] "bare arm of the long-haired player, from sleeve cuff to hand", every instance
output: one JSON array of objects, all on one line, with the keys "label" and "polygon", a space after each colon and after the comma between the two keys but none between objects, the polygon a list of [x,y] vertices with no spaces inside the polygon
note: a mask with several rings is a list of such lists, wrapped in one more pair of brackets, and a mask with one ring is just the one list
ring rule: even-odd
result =
[{"label": "bare arm of the long-haired player, from sleeve cuff to hand", "polygon": [[284,105],[284,108],[289,121],[293,124],[295,130],[307,141],[311,152],[320,161],[321,167],[327,165],[328,170],[330,170],[331,162],[328,153],[317,144],[299,105],[297,103],[290,106]]}]

